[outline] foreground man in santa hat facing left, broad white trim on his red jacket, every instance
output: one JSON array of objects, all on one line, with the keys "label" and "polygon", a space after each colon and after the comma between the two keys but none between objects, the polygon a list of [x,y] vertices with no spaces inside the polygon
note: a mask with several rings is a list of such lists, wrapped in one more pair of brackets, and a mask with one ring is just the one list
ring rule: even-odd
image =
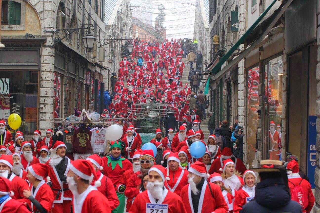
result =
[{"label": "foreground man in santa hat facing left, broad white trim on his red jacket", "polygon": [[[91,185],[93,179],[95,180],[94,186]],[[75,160],[71,162],[67,183],[73,194],[73,213],[111,213],[108,198],[97,189],[101,186],[98,179],[90,161]]]}]

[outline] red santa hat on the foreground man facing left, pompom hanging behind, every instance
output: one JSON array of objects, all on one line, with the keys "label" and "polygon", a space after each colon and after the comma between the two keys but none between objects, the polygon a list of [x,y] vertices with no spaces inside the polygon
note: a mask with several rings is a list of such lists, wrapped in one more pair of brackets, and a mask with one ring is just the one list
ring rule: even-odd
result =
[{"label": "red santa hat on the foreground man facing left, pompom hanging behind", "polygon": [[94,170],[92,163],[87,160],[75,160],[71,162],[70,170],[82,179],[89,180],[89,183],[95,179],[94,186],[101,186],[100,180],[98,180],[96,171]]}]

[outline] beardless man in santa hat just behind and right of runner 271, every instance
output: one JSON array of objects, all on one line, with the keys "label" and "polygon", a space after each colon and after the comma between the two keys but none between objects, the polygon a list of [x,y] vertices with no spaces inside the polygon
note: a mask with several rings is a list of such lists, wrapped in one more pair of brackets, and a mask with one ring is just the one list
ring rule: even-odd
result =
[{"label": "beardless man in santa hat just behind and right of runner 271", "polygon": [[180,195],[183,186],[188,184],[188,171],[180,166],[180,159],[178,153],[172,152],[168,157],[168,166],[166,168],[168,189]]}]

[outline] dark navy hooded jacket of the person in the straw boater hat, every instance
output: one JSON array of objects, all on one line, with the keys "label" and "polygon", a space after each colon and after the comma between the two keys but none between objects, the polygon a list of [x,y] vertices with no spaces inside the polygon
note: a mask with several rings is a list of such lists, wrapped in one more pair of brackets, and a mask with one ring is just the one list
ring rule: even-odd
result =
[{"label": "dark navy hooded jacket of the person in the straw boater hat", "polygon": [[265,179],[256,186],[254,199],[243,206],[240,213],[301,213],[299,203],[292,201],[283,179]]}]

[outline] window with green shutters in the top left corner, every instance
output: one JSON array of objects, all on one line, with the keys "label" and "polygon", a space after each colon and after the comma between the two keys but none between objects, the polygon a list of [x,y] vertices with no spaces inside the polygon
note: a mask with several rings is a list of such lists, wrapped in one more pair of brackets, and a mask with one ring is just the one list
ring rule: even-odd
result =
[{"label": "window with green shutters in the top left corner", "polygon": [[20,25],[21,4],[14,1],[3,1],[1,7],[2,25]]}]

